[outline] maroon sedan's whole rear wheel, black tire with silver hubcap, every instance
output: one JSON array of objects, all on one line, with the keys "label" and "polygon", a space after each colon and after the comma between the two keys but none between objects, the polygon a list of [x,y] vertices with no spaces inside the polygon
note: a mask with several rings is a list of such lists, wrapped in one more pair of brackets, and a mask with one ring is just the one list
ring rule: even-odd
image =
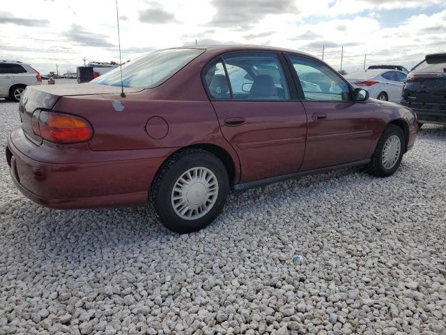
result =
[{"label": "maroon sedan's whole rear wheel, black tire with silver hubcap", "polygon": [[212,223],[228,192],[229,177],[222,161],[208,151],[186,149],[162,165],[149,198],[163,225],[184,234]]}]

